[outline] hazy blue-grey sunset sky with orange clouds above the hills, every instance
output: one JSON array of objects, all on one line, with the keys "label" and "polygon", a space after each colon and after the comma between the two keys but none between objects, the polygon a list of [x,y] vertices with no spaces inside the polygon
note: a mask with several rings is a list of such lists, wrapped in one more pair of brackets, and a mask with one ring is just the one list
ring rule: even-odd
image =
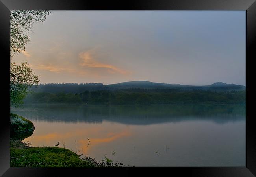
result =
[{"label": "hazy blue-grey sunset sky with orange clouds above the hills", "polygon": [[52,11],[26,50],[39,83],[245,83],[245,11]]}]

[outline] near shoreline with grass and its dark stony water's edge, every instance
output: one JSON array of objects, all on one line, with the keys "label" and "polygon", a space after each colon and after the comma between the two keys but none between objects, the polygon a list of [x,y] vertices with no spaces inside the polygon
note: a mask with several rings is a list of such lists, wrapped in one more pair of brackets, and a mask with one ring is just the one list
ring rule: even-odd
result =
[{"label": "near shoreline with grass and its dark stony water's edge", "polygon": [[[22,124],[20,123],[19,125]],[[113,167],[113,165],[108,164],[107,161],[105,164],[96,162],[95,159],[91,157],[86,157],[85,159],[80,158],[82,154],[78,155],[66,148],[56,146],[29,146],[31,144],[22,142],[22,140],[33,134],[33,132],[31,135],[27,133],[28,132],[11,134],[13,135],[10,137],[11,167]],[[26,136],[21,136],[24,134],[26,134]]]}]

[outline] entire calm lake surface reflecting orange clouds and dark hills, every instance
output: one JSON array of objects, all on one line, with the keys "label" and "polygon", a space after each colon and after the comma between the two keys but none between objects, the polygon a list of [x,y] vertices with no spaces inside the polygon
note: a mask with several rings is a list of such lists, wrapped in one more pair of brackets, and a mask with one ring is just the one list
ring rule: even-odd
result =
[{"label": "entire calm lake surface reflecting orange clouds and dark hills", "polygon": [[[23,140],[125,166],[245,166],[245,105],[24,105]],[[90,142],[89,142],[89,140]]]}]

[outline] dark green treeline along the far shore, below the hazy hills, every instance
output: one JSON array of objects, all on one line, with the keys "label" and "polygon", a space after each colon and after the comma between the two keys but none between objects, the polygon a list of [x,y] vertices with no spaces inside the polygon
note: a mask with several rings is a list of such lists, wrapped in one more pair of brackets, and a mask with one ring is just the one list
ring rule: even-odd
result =
[{"label": "dark green treeline along the far shore, below the hazy hills", "polygon": [[70,103],[70,104],[187,104],[187,103],[245,103],[245,91],[211,92],[204,90],[96,90],[82,93],[32,92],[24,103]]}]

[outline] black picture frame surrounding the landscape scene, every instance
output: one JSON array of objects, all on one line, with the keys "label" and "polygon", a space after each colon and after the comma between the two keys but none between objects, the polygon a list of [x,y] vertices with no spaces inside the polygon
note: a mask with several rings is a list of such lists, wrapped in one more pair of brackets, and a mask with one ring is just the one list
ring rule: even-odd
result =
[{"label": "black picture frame surrounding the landscape scene", "polygon": [[[0,44],[2,55],[2,103],[7,108],[1,118],[0,138],[0,175],[6,176],[61,176],[87,175],[88,168],[26,168],[10,167],[9,162],[9,10],[14,9],[49,9],[49,10],[243,10],[246,11],[246,166],[245,167],[198,167],[198,168],[165,168],[167,174],[189,174],[189,176],[232,176],[250,177],[256,175],[256,131],[255,118],[252,112],[254,92],[252,81],[252,62],[255,57],[256,43],[256,2],[255,0],[129,0],[129,1],[93,1],[93,0],[0,0]],[[252,77],[252,78],[250,78]],[[5,83],[6,82],[6,83]],[[5,96],[5,97],[3,97]],[[90,168],[93,172],[104,170],[134,171],[141,168]],[[145,171],[152,171],[147,168]],[[161,168],[161,170],[163,170]],[[113,171],[111,171],[111,174]],[[121,172],[123,173],[123,172]],[[121,174],[120,174],[121,175]]]}]

